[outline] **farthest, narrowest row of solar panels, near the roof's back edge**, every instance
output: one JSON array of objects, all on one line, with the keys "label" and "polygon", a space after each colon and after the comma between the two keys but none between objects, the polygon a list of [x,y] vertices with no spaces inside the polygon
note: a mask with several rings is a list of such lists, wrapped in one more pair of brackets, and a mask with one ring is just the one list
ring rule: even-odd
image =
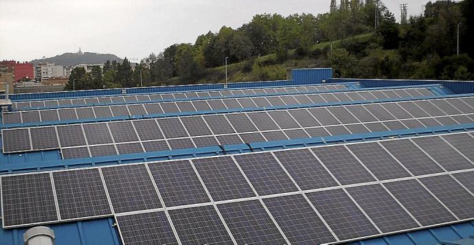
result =
[{"label": "farthest, narrowest row of solar panels, near the roof's back edge", "polygon": [[[153,93],[141,95],[121,95],[121,96],[102,96],[87,97],[65,100],[41,100],[32,102],[14,102],[12,108],[21,110],[28,108],[55,107],[55,106],[85,106],[97,104],[111,103],[136,103],[149,102],[159,100],[195,100],[210,97],[236,97],[242,95],[273,95],[273,94],[291,94],[291,93],[308,93],[308,92],[324,92],[324,91],[343,91],[348,90],[344,84],[332,85],[311,85],[311,86],[284,86],[284,87],[268,87],[256,89],[230,89],[230,90],[214,90],[214,91],[185,91],[179,93]],[[420,91],[428,95],[429,91]],[[416,93],[415,93],[416,94]]]}]

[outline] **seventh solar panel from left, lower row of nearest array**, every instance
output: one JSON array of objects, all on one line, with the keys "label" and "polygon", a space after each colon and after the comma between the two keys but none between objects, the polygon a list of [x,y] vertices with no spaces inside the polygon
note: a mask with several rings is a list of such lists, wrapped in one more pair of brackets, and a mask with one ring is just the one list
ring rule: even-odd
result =
[{"label": "seventh solar panel from left, lower row of nearest array", "polygon": [[383,184],[423,226],[454,221],[455,218],[416,180]]}]

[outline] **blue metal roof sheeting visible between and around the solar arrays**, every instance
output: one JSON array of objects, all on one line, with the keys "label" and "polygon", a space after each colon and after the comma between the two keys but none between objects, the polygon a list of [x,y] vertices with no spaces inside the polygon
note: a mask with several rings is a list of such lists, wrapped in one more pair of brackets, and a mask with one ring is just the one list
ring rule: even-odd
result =
[{"label": "blue metal roof sheeting visible between and around the solar arrays", "polygon": [[[304,71],[306,72],[306,71]],[[303,75],[304,76],[304,75]],[[321,78],[322,80],[322,78]],[[315,84],[321,82],[317,80],[316,82],[304,81],[302,84]],[[341,81],[339,81],[341,82]],[[344,82],[344,81],[342,81]],[[359,86],[356,86],[354,82],[356,80],[351,80],[352,89],[357,89]],[[432,82],[432,81],[430,81]],[[433,83],[438,83],[433,82]],[[263,83],[239,83],[239,84],[229,84],[229,87],[235,88],[250,88],[255,86],[282,86],[282,85],[291,85],[295,84],[289,81],[275,81],[275,82],[263,82]],[[387,84],[378,84],[390,86]],[[420,84],[421,86],[426,86]],[[185,86],[187,89],[216,89],[220,87],[222,89],[222,84],[205,84],[205,85],[190,85]],[[363,84],[366,86],[366,84]],[[158,87],[163,88],[163,87]],[[445,87],[433,86],[434,91],[436,92],[436,97],[454,97],[459,95],[453,95],[453,92]],[[132,89],[131,91],[135,93],[150,93],[149,91],[181,91],[180,86],[173,86],[172,90],[169,87],[166,89],[157,89],[157,88],[141,88],[141,89]],[[120,90],[107,90],[104,91],[76,91],[76,92],[67,92],[67,93],[57,93],[54,96],[59,97],[74,97],[74,96],[97,96],[99,94],[104,95],[120,95],[118,93]],[[160,92],[160,93],[161,93]],[[473,93],[470,89],[466,91],[457,91],[464,93]],[[46,100],[47,98],[52,98],[52,95],[21,95],[17,100]],[[425,98],[423,98],[425,99]],[[315,105],[311,105],[315,106]],[[321,105],[319,105],[321,106]],[[201,112],[202,113],[202,112]],[[214,112],[215,113],[215,112]],[[227,154],[227,153],[236,153],[236,152],[246,152],[246,151],[259,151],[259,150],[273,150],[278,148],[292,148],[292,147],[302,147],[306,145],[318,145],[326,143],[337,143],[337,142],[347,142],[347,141],[363,141],[366,139],[383,139],[384,137],[391,137],[394,135],[397,136],[414,136],[414,135],[423,135],[423,134],[432,134],[439,132],[455,132],[459,130],[474,130],[474,124],[463,124],[463,125],[454,125],[454,126],[442,126],[442,127],[433,127],[425,128],[419,130],[397,130],[392,132],[372,132],[359,135],[342,135],[335,137],[321,137],[321,138],[311,138],[311,139],[297,139],[297,140],[288,140],[288,141],[273,141],[265,143],[250,143],[242,145],[225,145],[223,148],[219,147],[210,147],[210,148],[197,148],[197,149],[185,149],[185,150],[171,150],[167,152],[148,152],[141,154],[127,154],[120,156],[102,156],[89,159],[70,159],[70,160],[61,160],[60,152],[58,150],[48,150],[42,152],[27,152],[23,154],[0,154],[0,174],[5,174],[9,172],[34,172],[38,170],[52,170],[58,168],[70,168],[70,167],[86,167],[91,165],[107,165],[107,164],[121,164],[121,163],[133,163],[133,162],[143,162],[143,161],[156,161],[170,158],[180,158],[180,157],[193,157],[193,156],[202,156],[205,154]],[[120,235],[117,232],[116,226],[114,224],[113,218],[102,218],[98,220],[86,220],[78,222],[67,222],[61,224],[52,224],[50,227],[54,230],[56,235],[56,244],[121,244]],[[0,229],[0,244],[12,244],[20,245],[23,244],[23,233],[26,229]],[[440,226],[431,229],[424,229],[420,231],[411,231],[407,233],[399,233],[394,235],[387,235],[384,237],[376,237],[368,240],[362,240],[358,242],[352,242],[351,244],[445,244],[444,242],[451,242],[462,240],[463,238],[469,237],[474,234],[474,222],[463,222],[460,224],[451,224],[447,226]],[[469,241],[468,241],[469,242]]]}]

